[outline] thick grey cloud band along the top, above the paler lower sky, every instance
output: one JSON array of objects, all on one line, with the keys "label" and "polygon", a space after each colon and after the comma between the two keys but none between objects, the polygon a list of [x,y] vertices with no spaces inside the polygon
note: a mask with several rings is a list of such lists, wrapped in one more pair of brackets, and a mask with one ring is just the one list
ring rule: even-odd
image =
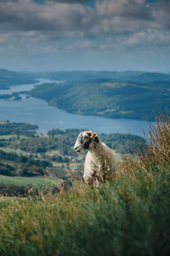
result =
[{"label": "thick grey cloud band along the top, above the paler lower sky", "polygon": [[[59,32],[60,36],[80,32],[128,33],[148,28],[168,28],[170,4],[145,0],[96,0],[95,9],[82,1],[3,0],[0,3],[0,30]],[[69,4],[72,3],[72,4]]]}]

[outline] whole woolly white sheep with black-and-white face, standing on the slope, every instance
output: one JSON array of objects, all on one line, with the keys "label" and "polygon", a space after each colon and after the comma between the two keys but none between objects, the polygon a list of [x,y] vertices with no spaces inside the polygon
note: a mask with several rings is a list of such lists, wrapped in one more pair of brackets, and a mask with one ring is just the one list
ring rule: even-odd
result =
[{"label": "whole woolly white sheep with black-and-white face, standing on the slope", "polygon": [[82,131],[74,145],[77,153],[88,149],[84,163],[83,178],[92,188],[111,180],[115,173],[115,163],[111,148],[99,140],[94,131]]}]

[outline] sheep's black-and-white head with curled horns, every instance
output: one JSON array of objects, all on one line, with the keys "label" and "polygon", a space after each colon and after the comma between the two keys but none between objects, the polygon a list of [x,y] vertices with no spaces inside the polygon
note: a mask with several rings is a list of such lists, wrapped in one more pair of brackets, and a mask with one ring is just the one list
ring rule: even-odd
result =
[{"label": "sheep's black-and-white head with curled horns", "polygon": [[99,143],[99,137],[94,131],[82,131],[77,137],[74,149],[81,154],[87,149],[94,148],[96,143]]}]

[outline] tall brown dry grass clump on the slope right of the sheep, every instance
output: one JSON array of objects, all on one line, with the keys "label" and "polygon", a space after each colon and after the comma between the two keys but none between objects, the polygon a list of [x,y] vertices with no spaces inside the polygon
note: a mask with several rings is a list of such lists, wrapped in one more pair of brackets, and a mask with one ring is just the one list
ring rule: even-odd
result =
[{"label": "tall brown dry grass clump on the slope right of the sheep", "polygon": [[147,148],[141,145],[136,158],[126,158],[118,166],[118,176],[130,175],[131,172],[149,172],[150,169],[170,171],[170,118],[163,113],[156,118],[156,124],[150,125],[149,136],[145,136]]}]

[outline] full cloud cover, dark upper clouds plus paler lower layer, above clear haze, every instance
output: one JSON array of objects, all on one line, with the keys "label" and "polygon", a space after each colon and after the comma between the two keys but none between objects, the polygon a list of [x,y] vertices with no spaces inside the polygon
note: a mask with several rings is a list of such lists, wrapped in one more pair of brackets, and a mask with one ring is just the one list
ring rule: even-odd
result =
[{"label": "full cloud cover, dark upper clouds plus paler lower layer, above clear haze", "polygon": [[170,2],[96,0],[94,9],[82,4],[86,2],[0,1],[1,49],[17,50],[24,46],[28,51],[55,52],[169,44]]}]

